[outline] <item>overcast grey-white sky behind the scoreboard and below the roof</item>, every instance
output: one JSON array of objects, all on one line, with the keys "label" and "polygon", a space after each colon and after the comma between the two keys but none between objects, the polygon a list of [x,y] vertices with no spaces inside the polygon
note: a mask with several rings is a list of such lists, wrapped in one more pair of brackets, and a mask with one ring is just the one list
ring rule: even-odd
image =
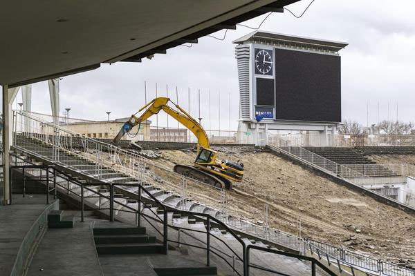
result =
[{"label": "overcast grey-white sky behind the scoreboard and below the roof", "polygon": [[[288,6],[300,14],[310,0]],[[380,120],[414,121],[415,64],[415,2],[412,0],[315,0],[304,16],[296,19],[288,12],[272,14],[261,30],[286,34],[345,41],[349,46],[342,56],[342,118],[376,124],[377,106]],[[246,21],[257,27],[265,16]],[[142,63],[102,64],[98,70],[64,77],[60,82],[60,109],[72,108],[70,117],[106,119],[128,117],[153,99],[158,83],[158,95],[166,94],[187,109],[187,88],[190,88],[190,111],[199,117],[197,90],[201,90],[201,117],[209,128],[208,90],[211,94],[212,129],[219,128],[219,92],[221,92],[221,129],[229,128],[229,97],[231,128],[236,129],[239,110],[237,62],[232,41],[252,30],[238,26],[229,30],[224,41],[211,37],[187,48],[178,46],[167,55],[143,59]],[[224,31],[214,35],[223,37]],[[229,94],[230,93],[230,94]],[[21,95],[17,96],[21,101]],[[33,111],[50,114],[46,82],[33,85]],[[159,116],[159,126],[165,125],[166,115]],[[151,118],[154,123],[156,118]],[[170,126],[176,122],[169,120]]]}]

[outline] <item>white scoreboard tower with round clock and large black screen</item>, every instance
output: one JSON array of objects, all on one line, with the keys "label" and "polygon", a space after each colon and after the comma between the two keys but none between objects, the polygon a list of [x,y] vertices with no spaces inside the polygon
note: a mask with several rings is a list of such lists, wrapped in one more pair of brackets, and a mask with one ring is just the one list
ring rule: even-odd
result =
[{"label": "white scoreboard tower with round clock and large black screen", "polygon": [[336,132],[342,121],[338,52],[348,43],[259,30],[233,43],[239,134],[264,145],[268,130],[306,130],[321,137]]}]

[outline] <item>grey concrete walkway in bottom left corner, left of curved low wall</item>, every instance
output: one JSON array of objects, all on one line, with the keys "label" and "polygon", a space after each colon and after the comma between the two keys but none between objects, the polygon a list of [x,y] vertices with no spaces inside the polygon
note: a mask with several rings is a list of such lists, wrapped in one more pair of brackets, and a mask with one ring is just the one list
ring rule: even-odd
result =
[{"label": "grey concrete walkway in bottom left corner, left of curved low wall", "polygon": [[24,237],[46,207],[46,195],[13,195],[12,205],[0,206],[0,275],[10,275]]}]

